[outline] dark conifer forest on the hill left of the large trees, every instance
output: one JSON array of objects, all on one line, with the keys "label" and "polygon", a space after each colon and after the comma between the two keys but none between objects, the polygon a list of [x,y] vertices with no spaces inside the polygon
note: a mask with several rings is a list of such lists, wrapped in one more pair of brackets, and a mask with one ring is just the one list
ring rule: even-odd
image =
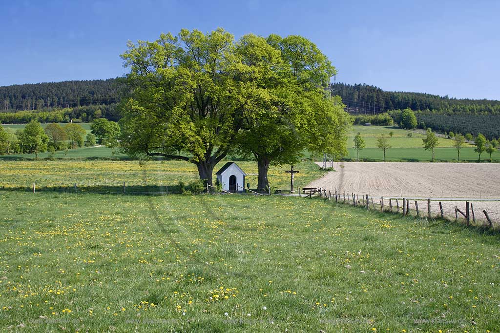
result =
[{"label": "dark conifer forest on the hill left of the large trees", "polygon": [[0,87],[0,110],[41,110],[118,101],[116,79],[16,84]]}]

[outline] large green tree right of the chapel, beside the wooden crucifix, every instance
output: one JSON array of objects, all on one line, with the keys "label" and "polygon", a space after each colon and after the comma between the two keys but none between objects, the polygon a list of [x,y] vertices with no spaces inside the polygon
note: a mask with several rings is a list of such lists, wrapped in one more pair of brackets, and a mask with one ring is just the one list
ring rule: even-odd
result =
[{"label": "large green tree right of the chapel, beside the wooden crucifix", "polygon": [[350,119],[340,98],[325,92],[336,71],[316,45],[301,36],[248,34],[236,43],[236,54],[251,69],[244,82],[255,92],[238,147],[257,162],[258,190],[269,185],[270,164],[294,164],[304,149],[346,154]]}]

